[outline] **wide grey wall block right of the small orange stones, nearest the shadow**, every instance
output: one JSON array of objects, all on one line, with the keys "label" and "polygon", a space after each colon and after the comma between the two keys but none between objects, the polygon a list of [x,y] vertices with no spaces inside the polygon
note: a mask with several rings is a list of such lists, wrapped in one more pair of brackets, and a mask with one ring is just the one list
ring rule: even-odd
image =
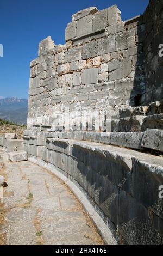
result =
[{"label": "wide grey wall block right of the small orange stones, nearest the shadow", "polygon": [[114,59],[108,63],[109,81],[126,78],[132,71],[131,57]]}]

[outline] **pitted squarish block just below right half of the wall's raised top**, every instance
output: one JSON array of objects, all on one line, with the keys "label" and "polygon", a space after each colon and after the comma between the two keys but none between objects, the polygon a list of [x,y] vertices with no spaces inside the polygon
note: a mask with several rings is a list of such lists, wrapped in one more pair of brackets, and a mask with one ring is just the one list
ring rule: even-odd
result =
[{"label": "pitted squarish block just below right half of the wall's raised top", "polygon": [[115,52],[115,35],[109,35],[108,38],[99,39],[98,41],[99,55],[103,55],[110,52]]}]

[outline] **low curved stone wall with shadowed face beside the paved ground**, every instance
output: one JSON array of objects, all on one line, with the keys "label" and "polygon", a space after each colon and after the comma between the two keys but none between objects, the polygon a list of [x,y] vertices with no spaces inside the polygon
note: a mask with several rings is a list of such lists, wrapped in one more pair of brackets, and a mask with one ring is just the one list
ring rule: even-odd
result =
[{"label": "low curved stone wall with shadowed face beside the paved ground", "polygon": [[[158,198],[158,186],[163,182],[162,157],[72,139],[49,138],[46,143],[43,163],[78,184],[103,212],[105,220],[114,223],[115,230],[118,227],[126,243],[162,244],[157,224],[162,222],[162,203]],[[36,163],[42,160],[35,158]],[[149,212],[154,222],[150,221]]]}]

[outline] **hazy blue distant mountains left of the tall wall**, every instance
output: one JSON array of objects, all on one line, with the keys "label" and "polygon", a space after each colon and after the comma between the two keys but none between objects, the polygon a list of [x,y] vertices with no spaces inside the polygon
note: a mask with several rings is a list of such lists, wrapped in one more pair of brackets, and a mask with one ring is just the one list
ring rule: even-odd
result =
[{"label": "hazy blue distant mountains left of the tall wall", "polygon": [[0,99],[0,118],[15,122],[17,124],[27,124],[28,101],[17,97]]}]

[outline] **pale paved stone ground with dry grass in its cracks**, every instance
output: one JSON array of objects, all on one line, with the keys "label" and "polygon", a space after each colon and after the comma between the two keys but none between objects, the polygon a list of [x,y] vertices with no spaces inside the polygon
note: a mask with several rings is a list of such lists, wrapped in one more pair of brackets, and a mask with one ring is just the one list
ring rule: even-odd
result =
[{"label": "pale paved stone ground with dry grass in its cracks", "polygon": [[25,161],[3,164],[8,187],[0,205],[0,245],[103,245],[68,187]]}]

